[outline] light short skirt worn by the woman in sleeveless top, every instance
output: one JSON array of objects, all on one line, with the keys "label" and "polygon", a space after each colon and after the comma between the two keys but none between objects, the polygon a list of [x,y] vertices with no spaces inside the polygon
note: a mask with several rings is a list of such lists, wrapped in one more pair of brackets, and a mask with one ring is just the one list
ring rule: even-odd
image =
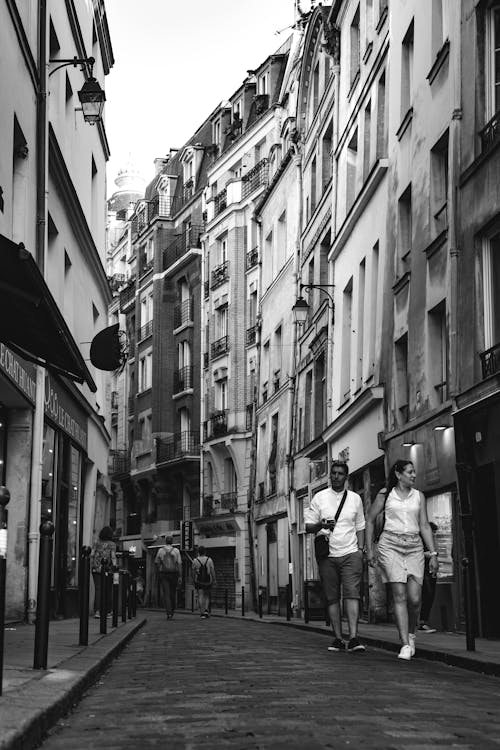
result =
[{"label": "light short skirt worn by the woman in sleeveless top", "polygon": [[413,576],[417,583],[422,584],[425,558],[420,534],[383,531],[377,558],[384,583],[406,583],[409,576]]}]

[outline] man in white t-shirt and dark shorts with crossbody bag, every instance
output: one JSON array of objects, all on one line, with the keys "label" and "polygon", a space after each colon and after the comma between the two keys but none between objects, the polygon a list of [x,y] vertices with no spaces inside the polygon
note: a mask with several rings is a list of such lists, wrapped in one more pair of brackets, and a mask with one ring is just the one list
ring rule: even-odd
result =
[{"label": "man in white t-shirt and dark shorts with crossbody bag", "polygon": [[[345,489],[348,474],[349,469],[344,461],[332,462],[331,486],[314,495],[309,508],[304,512],[304,522],[307,533],[315,534],[318,541],[321,541],[321,536],[328,541],[323,559],[317,556],[319,576],[334,636],[328,650],[345,651],[346,648],[342,638],[340,614],[342,590],[349,627],[347,650],[362,652],[365,647],[358,639],[358,618],[365,517],[360,496]],[[315,540],[315,546],[316,544]]]}]

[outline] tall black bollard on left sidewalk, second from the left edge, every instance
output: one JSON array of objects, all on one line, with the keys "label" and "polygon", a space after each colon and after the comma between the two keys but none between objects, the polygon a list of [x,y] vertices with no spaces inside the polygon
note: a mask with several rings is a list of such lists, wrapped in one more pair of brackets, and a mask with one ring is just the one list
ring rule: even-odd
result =
[{"label": "tall black bollard on left sidewalk, second from the left edge", "polygon": [[33,669],[47,669],[53,534],[54,524],[51,521],[43,521],[40,525],[40,554],[38,558],[38,591],[36,597],[35,655],[33,659]]}]

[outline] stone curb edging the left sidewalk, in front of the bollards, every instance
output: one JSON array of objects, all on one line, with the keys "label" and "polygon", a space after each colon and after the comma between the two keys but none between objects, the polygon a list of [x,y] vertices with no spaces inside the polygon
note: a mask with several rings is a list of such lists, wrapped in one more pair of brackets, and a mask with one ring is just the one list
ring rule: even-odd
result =
[{"label": "stone curb edging the left sidewalk, in front of the bollards", "polygon": [[[0,702],[0,750],[32,750],[51,727],[77,703],[104,669],[145,625],[144,617],[132,626],[100,639],[48,670],[10,691]],[[123,629],[126,628],[126,632]]]}]

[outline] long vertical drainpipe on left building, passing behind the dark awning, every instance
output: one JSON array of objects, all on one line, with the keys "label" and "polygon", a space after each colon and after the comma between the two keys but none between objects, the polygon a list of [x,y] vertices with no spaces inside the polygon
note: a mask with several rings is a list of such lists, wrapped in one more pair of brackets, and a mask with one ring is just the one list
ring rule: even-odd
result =
[{"label": "long vertical drainpipe on left building, passing behind the dark awning", "polygon": [[[38,92],[36,108],[36,260],[45,275],[45,248],[47,245],[47,2],[38,2]],[[31,452],[31,488],[28,530],[28,621],[36,618],[38,589],[38,550],[41,520],[42,469],[43,469],[43,417],[45,405],[45,369],[36,367],[35,413],[33,417],[33,443]]]}]

